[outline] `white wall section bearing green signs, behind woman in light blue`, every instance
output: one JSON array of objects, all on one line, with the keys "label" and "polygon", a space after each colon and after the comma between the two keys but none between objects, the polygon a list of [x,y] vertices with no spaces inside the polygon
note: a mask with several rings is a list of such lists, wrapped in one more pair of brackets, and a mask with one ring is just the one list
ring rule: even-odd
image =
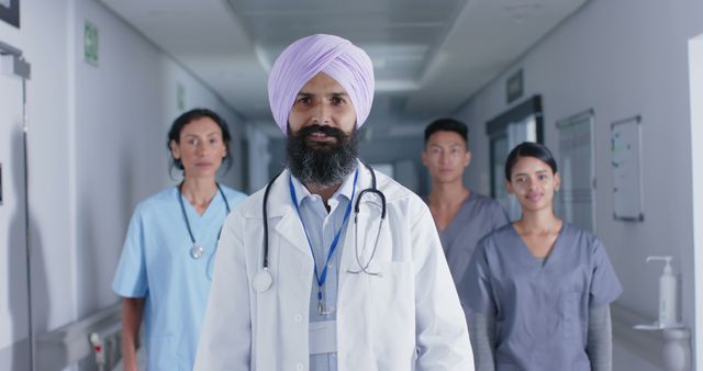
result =
[{"label": "white wall section bearing green signs, behind woman in light blue", "polygon": [[177,86],[187,108],[211,108],[231,124],[239,117],[101,4],[80,2],[76,45],[82,45],[83,20],[90,21],[100,30],[101,58],[94,67],[76,50],[77,260],[83,267],[77,291],[83,316],[114,302],[110,284],[125,232],[114,222],[126,225],[136,201],[175,182],[167,172],[166,133],[181,113]]}]

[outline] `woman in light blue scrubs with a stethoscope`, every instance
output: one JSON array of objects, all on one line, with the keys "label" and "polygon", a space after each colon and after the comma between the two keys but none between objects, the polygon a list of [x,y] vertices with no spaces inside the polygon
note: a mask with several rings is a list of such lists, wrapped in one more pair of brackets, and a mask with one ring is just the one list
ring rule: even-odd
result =
[{"label": "woman in light blue scrubs with a stethoscope", "polygon": [[171,125],[171,167],[183,181],[137,204],[112,283],[123,296],[125,371],[137,370],[142,322],[148,371],[193,368],[220,229],[245,198],[215,180],[230,140],[226,123],[210,110],[188,111]]}]

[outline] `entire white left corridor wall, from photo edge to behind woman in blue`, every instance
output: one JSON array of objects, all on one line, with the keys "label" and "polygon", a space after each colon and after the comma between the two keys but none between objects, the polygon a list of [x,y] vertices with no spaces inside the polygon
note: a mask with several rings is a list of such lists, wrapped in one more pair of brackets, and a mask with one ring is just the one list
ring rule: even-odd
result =
[{"label": "entire white left corridor wall, from photo edge to behind woman in blue", "polygon": [[[98,67],[82,59],[86,20],[99,27]],[[32,64],[30,210],[42,333],[118,301],[110,283],[132,210],[175,183],[166,133],[181,113],[176,87],[185,88],[185,109],[210,108],[230,123],[237,147],[222,181],[234,188],[242,186],[242,117],[93,0],[22,1],[21,29],[0,23],[0,41]],[[11,348],[0,349],[2,370],[11,369]]]}]

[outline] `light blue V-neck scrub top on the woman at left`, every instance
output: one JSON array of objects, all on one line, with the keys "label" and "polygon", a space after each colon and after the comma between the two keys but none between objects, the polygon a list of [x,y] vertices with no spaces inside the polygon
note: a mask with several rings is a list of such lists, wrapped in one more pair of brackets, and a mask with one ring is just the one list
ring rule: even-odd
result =
[{"label": "light blue V-neck scrub top on the woman at left", "polygon": [[[222,187],[230,210],[246,195]],[[202,215],[183,199],[196,241],[205,249],[200,259],[190,256],[192,243],[179,204],[177,187],[170,187],[137,204],[112,289],[124,297],[146,297],[144,346],[148,371],[191,371],[210,293],[215,245],[226,216],[220,192]]]}]

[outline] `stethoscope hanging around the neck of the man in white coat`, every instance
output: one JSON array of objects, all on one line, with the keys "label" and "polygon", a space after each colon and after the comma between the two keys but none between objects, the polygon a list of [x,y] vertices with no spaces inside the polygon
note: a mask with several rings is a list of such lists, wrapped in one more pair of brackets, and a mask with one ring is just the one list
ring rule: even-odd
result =
[{"label": "stethoscope hanging around the neck of the man in white coat", "polygon": [[[376,255],[376,249],[378,248],[378,240],[379,237],[381,235],[381,228],[383,226],[383,221],[386,221],[386,195],[383,194],[383,192],[379,191],[378,188],[376,187],[376,173],[373,172],[373,169],[371,169],[370,166],[364,164],[364,166],[369,170],[369,172],[371,173],[371,188],[367,188],[365,190],[362,190],[361,192],[359,192],[359,195],[356,199],[356,203],[354,204],[354,248],[355,248],[355,255],[356,255],[356,261],[359,265],[359,268],[357,270],[347,270],[347,273],[352,273],[352,274],[358,274],[358,273],[366,273],[369,276],[376,276],[376,277],[380,277],[381,273],[380,272],[371,272],[368,270],[369,265],[371,263],[371,261],[373,260],[373,256]],[[263,214],[264,214],[264,262],[261,263],[261,269],[256,272],[256,274],[254,276],[254,281],[252,282],[254,290],[256,290],[257,292],[265,292],[267,291],[271,284],[274,283],[274,277],[271,276],[271,272],[269,271],[269,261],[268,261],[268,212],[267,212],[267,204],[268,204],[268,194],[269,191],[271,189],[271,186],[274,186],[274,182],[276,181],[276,179],[278,179],[278,177],[281,173],[278,173],[276,177],[274,177],[274,179],[271,179],[268,184],[266,186],[266,190],[264,191],[264,202],[263,202]],[[356,186],[355,186],[356,187]],[[359,257],[359,245],[358,245],[358,223],[357,223],[357,218],[359,215],[359,205],[361,204],[361,199],[364,199],[364,195],[368,195],[368,194],[376,194],[379,199],[381,199],[381,221],[378,225],[378,232],[376,233],[376,241],[373,243],[373,250],[371,250],[371,255],[368,259],[368,261],[366,261],[366,263],[361,263],[361,259]]]}]

